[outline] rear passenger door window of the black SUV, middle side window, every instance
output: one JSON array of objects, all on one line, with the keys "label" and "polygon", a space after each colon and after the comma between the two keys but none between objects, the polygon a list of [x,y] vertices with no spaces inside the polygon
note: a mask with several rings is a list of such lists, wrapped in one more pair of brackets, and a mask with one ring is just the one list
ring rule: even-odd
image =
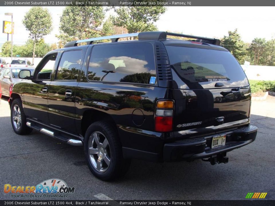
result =
[{"label": "rear passenger door window of the black SUV, middle side window", "polygon": [[56,80],[76,80],[81,58],[82,50],[64,51],[58,65]]}]

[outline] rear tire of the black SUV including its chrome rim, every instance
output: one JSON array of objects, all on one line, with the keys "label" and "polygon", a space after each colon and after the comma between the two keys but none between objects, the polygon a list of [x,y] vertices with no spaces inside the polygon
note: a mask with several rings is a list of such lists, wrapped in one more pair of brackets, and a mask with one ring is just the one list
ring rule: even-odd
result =
[{"label": "rear tire of the black SUV including its chrome rim", "polygon": [[84,153],[95,177],[109,181],[125,175],[131,160],[123,159],[115,127],[105,121],[94,122],[84,137]]}]

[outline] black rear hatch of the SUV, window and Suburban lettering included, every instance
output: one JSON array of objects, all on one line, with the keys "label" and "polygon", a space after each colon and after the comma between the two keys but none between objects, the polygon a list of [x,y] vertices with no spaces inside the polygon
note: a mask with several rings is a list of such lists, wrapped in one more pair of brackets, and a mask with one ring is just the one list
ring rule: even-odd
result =
[{"label": "black rear hatch of the SUV, window and Suburban lettering included", "polygon": [[[174,131],[245,122],[250,87],[243,69],[225,49],[166,45],[173,78]],[[218,50],[219,49],[219,50]]]}]

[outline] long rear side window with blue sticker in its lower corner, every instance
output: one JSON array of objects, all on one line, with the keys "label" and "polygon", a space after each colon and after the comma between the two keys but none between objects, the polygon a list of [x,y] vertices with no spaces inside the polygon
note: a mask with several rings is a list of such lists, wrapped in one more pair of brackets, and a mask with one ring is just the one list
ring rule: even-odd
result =
[{"label": "long rear side window with blue sticker in its lower corner", "polygon": [[150,43],[95,45],[87,76],[91,81],[155,84],[154,48]]}]

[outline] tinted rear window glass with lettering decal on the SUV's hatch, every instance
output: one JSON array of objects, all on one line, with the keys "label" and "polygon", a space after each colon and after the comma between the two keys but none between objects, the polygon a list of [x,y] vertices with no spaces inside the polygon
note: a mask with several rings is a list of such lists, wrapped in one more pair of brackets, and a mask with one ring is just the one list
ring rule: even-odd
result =
[{"label": "tinted rear window glass with lettering decal on the SUV's hatch", "polygon": [[217,82],[224,87],[249,85],[243,69],[228,51],[178,46],[166,46],[166,50],[178,88],[219,88],[215,87]]}]

